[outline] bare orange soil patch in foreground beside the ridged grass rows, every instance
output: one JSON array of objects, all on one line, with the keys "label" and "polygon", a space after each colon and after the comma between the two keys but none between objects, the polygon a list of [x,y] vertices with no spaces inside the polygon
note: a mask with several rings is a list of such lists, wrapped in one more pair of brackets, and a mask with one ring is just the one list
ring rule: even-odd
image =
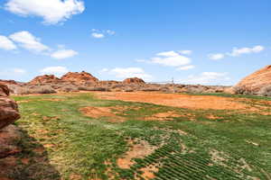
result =
[{"label": "bare orange soil patch in foreground beside the ridged grass rows", "polygon": [[143,158],[154,152],[157,147],[151,146],[147,141],[141,140],[137,144],[133,144],[133,141],[129,141],[130,148],[126,152],[124,157],[117,159],[117,166],[120,168],[129,168],[134,165],[134,158]]}]

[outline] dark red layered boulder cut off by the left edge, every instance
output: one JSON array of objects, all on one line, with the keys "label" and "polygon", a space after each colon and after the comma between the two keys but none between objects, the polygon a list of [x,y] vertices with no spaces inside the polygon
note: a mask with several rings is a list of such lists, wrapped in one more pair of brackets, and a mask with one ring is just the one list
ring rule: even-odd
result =
[{"label": "dark red layered boulder cut off by the left edge", "polygon": [[8,95],[8,87],[0,84],[0,130],[20,118],[17,103]]}]

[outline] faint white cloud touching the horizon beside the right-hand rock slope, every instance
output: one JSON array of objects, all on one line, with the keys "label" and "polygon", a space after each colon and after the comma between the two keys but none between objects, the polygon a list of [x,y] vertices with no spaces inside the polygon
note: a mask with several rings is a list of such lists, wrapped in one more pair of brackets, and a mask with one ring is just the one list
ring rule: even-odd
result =
[{"label": "faint white cloud touching the horizon beside the right-hand rock slope", "polygon": [[228,73],[203,72],[198,76],[188,76],[180,80],[183,84],[201,84],[201,85],[225,85],[229,83]]}]

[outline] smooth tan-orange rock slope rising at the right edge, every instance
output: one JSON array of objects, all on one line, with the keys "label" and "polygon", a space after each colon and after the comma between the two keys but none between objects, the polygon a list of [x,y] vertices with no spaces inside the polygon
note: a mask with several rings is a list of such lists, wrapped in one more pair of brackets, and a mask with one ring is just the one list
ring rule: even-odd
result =
[{"label": "smooth tan-orange rock slope rising at the right edge", "polygon": [[271,85],[271,65],[257,70],[255,73],[242,79],[235,88],[242,91],[257,93],[262,88]]}]

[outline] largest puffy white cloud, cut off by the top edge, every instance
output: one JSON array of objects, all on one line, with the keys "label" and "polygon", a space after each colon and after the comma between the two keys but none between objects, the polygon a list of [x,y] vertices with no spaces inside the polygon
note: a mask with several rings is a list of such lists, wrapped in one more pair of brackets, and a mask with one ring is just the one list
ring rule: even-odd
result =
[{"label": "largest puffy white cloud, cut off by the top edge", "polygon": [[24,17],[39,16],[44,23],[56,24],[83,13],[85,6],[80,0],[8,0],[5,10]]}]

